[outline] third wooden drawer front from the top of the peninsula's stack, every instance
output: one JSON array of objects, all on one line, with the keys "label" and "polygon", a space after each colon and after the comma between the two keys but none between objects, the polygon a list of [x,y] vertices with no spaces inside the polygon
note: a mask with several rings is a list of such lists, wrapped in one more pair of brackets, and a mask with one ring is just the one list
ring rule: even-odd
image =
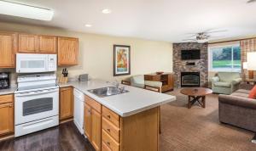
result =
[{"label": "third wooden drawer front from the top of the peninsula's stack", "polygon": [[116,143],[115,140],[104,130],[102,131],[102,143],[105,143],[112,151],[119,151],[119,143]]}]

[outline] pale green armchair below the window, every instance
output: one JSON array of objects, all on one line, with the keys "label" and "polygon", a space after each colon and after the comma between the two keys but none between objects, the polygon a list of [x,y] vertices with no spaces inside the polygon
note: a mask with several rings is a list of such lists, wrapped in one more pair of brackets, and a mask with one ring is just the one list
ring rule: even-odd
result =
[{"label": "pale green armchair below the window", "polygon": [[231,94],[238,90],[241,81],[238,72],[218,72],[217,76],[212,77],[212,92]]}]

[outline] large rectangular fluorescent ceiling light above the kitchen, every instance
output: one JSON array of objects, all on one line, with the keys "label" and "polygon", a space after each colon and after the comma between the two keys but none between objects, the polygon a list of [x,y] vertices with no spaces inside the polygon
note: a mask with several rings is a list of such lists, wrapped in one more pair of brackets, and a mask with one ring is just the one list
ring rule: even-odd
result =
[{"label": "large rectangular fluorescent ceiling light above the kitchen", "polygon": [[21,3],[0,1],[0,14],[7,14],[34,20],[52,20],[54,11]]}]

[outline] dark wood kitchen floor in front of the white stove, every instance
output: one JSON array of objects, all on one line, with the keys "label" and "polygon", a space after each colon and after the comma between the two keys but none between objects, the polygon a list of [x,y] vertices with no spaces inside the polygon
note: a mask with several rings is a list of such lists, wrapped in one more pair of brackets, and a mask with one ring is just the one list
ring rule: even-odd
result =
[{"label": "dark wood kitchen floor in front of the white stove", "polygon": [[0,142],[0,151],[93,151],[73,121]]}]

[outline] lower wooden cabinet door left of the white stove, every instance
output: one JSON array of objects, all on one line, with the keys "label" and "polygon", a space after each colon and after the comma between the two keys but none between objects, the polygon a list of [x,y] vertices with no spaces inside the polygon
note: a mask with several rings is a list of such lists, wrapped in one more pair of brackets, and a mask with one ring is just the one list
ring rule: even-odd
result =
[{"label": "lower wooden cabinet door left of the white stove", "polygon": [[13,103],[0,103],[0,135],[14,132]]}]

